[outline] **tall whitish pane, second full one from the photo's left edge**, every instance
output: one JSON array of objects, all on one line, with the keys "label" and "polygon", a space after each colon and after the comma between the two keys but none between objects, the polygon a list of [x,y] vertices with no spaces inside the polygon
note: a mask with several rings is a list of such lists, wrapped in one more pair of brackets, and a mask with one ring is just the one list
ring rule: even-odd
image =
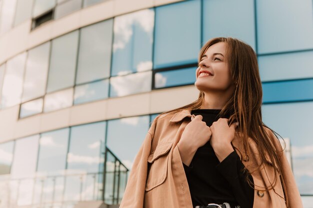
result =
[{"label": "tall whitish pane, second full one from the photo's left edge", "polygon": [[40,97],[45,93],[48,72],[50,42],[28,51],[22,102]]}]

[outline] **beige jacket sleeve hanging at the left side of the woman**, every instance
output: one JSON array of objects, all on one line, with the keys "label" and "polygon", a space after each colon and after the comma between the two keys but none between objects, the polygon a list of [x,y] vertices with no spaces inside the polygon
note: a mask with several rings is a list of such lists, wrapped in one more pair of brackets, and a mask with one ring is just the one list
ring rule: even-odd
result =
[{"label": "beige jacket sleeve hanging at the left side of the woman", "polygon": [[147,177],[147,159],[155,129],[155,120],[145,135],[132,164],[125,192],[119,208],[143,208],[143,198]]}]

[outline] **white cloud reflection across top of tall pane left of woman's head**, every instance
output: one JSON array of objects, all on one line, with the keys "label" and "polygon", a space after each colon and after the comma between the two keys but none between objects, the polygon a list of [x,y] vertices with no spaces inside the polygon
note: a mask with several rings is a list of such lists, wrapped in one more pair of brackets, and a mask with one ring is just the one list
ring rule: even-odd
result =
[{"label": "white cloud reflection across top of tall pane left of woman's head", "polygon": [[[113,52],[117,49],[125,47],[132,35],[133,23],[138,23],[145,32],[150,33],[154,26],[154,11],[151,9],[143,9],[126,15],[117,16],[114,19],[114,34],[118,35],[119,41],[114,41]],[[151,38],[151,42],[153,39]]]}]

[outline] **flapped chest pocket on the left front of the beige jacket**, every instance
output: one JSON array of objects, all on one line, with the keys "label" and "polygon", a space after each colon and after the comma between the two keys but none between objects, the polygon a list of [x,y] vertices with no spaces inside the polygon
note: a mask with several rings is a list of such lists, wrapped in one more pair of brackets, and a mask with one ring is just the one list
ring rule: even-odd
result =
[{"label": "flapped chest pocket on the left front of the beige jacket", "polygon": [[162,143],[156,146],[155,151],[148,157],[148,169],[145,191],[161,185],[167,176],[169,150],[172,143]]}]

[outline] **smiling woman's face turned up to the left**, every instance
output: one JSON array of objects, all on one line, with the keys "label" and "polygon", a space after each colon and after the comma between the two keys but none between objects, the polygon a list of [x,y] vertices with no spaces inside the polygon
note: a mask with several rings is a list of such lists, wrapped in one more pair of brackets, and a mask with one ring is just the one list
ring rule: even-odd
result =
[{"label": "smiling woman's face turned up to the left", "polygon": [[[224,58],[225,49],[226,44],[218,42],[211,45],[202,55],[199,67],[195,71],[196,81],[194,82],[199,91],[227,91],[233,87],[233,80]],[[210,72],[212,76],[207,74],[199,75],[201,70]]]}]

